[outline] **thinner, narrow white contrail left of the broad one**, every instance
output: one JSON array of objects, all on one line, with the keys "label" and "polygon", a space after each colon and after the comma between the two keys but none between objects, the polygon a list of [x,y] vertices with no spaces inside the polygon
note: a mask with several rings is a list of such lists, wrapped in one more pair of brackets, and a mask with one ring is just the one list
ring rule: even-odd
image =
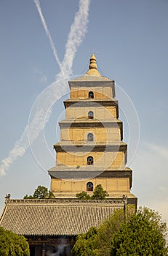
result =
[{"label": "thinner, narrow white contrail left of the broad one", "polygon": [[58,58],[57,56],[57,50],[55,48],[55,44],[54,42],[52,41],[52,37],[51,37],[51,34],[49,33],[49,29],[47,28],[47,23],[44,19],[44,15],[42,14],[42,11],[41,11],[41,7],[40,7],[40,2],[39,0],[34,0],[34,3],[36,4],[36,8],[39,12],[39,16],[41,18],[41,23],[44,27],[44,30],[46,31],[46,34],[47,34],[47,37],[49,38],[49,42],[50,42],[50,45],[52,47],[52,51],[53,51],[53,55],[55,56],[55,59],[57,61],[57,64],[59,65],[59,67],[61,68],[61,63],[60,63],[60,59]]}]

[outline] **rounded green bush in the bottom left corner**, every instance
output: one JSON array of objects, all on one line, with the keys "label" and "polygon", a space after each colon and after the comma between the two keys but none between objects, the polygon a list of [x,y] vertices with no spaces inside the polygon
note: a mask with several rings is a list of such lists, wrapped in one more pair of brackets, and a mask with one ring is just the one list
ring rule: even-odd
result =
[{"label": "rounded green bush in the bottom left corner", "polygon": [[29,256],[29,246],[24,236],[17,236],[9,230],[0,227],[1,256]]}]

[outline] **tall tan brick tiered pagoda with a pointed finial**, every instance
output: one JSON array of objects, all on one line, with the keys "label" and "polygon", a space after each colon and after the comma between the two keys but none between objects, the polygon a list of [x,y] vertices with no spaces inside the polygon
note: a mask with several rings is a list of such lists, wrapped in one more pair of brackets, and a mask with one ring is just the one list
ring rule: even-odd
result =
[{"label": "tall tan brick tiered pagoda with a pointed finial", "polygon": [[52,192],[60,198],[82,191],[92,195],[101,184],[109,198],[126,196],[136,205],[114,80],[100,74],[93,54],[87,73],[68,83],[70,98],[59,123],[60,142],[54,145],[56,163],[49,170]]}]

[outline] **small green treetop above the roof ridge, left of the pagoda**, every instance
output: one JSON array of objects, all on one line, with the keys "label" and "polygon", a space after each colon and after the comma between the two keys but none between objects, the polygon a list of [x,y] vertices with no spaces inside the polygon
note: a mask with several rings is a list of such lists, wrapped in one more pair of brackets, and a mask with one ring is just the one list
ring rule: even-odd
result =
[{"label": "small green treetop above the roof ridge, left of the pagoda", "polygon": [[47,199],[47,198],[55,198],[55,195],[52,191],[48,190],[47,187],[38,186],[33,195],[25,195],[24,199]]}]

